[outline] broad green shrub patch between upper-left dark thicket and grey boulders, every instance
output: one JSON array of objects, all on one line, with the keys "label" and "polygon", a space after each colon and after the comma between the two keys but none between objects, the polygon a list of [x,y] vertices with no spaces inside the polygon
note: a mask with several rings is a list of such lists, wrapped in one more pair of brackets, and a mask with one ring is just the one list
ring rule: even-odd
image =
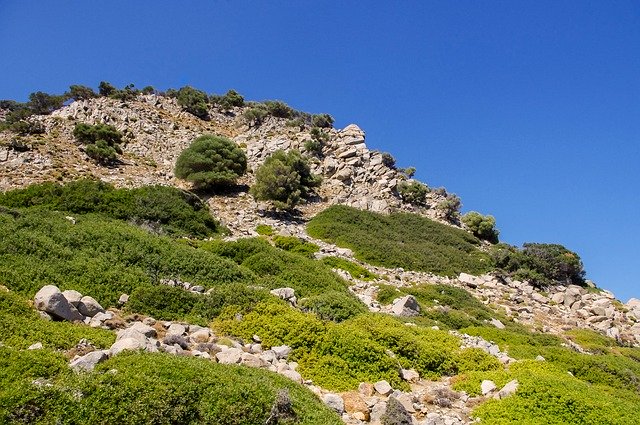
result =
[{"label": "broad green shrub patch between upper-left dark thicket and grey boulders", "polygon": [[74,224],[67,214],[0,212],[1,284],[27,296],[47,284],[76,289],[106,307],[163,277],[205,288],[254,279],[232,261],[167,237],[91,214]]}]

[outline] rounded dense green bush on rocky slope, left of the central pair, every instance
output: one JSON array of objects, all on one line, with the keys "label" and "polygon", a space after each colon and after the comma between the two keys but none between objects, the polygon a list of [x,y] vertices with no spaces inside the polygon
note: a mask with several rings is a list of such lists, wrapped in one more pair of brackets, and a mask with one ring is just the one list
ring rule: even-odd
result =
[{"label": "rounded dense green bush on rocky slope, left of the central pair", "polygon": [[247,156],[224,137],[204,135],[182,151],[175,175],[199,189],[232,185],[247,171]]}]

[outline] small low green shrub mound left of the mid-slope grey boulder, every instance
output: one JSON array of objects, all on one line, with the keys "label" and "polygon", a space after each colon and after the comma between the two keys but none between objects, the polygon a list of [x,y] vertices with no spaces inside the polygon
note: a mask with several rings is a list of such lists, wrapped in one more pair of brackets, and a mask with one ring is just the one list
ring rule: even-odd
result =
[{"label": "small low green shrub mound left of the mid-slope grey boulder", "polygon": [[367,311],[356,297],[337,291],[304,298],[300,301],[300,306],[315,313],[322,320],[334,322],[342,322]]}]

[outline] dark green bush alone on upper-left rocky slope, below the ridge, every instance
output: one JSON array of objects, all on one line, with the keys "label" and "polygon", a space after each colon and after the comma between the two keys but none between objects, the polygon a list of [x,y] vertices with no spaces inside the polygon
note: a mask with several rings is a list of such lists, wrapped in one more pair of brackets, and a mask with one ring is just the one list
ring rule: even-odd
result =
[{"label": "dark green bush alone on upper-left rocky slope, below the ridge", "polygon": [[113,126],[79,123],[73,129],[73,136],[85,145],[85,153],[99,163],[110,164],[122,154],[122,134]]}]

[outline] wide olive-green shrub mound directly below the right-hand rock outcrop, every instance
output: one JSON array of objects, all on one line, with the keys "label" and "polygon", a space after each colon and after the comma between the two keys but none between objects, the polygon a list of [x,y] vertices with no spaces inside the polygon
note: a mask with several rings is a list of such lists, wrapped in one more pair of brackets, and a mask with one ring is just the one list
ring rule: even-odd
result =
[{"label": "wide olive-green shrub mound directly below the right-hand rock outcrop", "polygon": [[309,235],[353,250],[369,264],[454,276],[491,269],[469,233],[416,214],[391,215],[332,206],[308,224]]}]

